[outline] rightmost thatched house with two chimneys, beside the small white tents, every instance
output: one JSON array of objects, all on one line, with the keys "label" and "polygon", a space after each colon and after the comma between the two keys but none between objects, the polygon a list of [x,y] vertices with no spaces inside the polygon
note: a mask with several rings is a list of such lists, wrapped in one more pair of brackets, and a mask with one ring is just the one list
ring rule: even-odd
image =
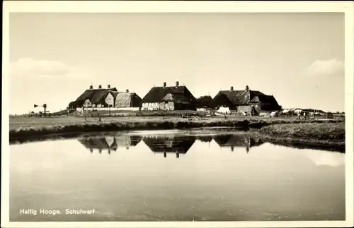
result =
[{"label": "rightmost thatched house with two chimneys, beside the small white tents", "polygon": [[258,90],[250,90],[246,85],[245,90],[221,90],[212,100],[212,107],[229,107],[236,112],[258,114],[261,111],[281,110],[273,95],[265,95]]}]

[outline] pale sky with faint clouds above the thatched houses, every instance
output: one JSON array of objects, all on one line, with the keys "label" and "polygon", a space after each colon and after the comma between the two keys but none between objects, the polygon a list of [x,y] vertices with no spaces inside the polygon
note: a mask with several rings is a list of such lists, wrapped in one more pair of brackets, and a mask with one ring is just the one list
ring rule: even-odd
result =
[{"label": "pale sky with faint clouds above the thatched houses", "polygon": [[259,90],[343,112],[343,13],[11,13],[10,113],[65,109],[90,85],[144,97]]}]

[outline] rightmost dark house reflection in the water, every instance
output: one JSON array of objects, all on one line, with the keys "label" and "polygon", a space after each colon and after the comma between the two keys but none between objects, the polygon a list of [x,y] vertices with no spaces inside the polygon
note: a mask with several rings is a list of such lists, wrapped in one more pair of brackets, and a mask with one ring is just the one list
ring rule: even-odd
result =
[{"label": "rightmost dark house reflection in the water", "polygon": [[252,138],[247,134],[217,135],[214,136],[214,140],[221,148],[229,147],[231,151],[234,151],[235,147],[241,147],[246,148],[246,152],[249,152],[250,148],[263,144],[260,139]]}]

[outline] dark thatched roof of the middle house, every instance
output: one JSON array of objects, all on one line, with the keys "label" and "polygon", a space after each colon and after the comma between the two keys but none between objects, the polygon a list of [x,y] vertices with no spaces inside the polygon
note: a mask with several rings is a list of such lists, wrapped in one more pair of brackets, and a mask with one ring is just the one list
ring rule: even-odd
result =
[{"label": "dark thatched roof of the middle house", "polygon": [[[142,102],[161,102],[161,100],[168,94],[171,94],[171,97],[176,97],[176,100],[181,100],[181,97],[184,96],[188,102],[195,102],[195,97],[184,85],[153,87],[147,95],[144,96]],[[168,97],[166,97],[166,99],[168,99]]]}]

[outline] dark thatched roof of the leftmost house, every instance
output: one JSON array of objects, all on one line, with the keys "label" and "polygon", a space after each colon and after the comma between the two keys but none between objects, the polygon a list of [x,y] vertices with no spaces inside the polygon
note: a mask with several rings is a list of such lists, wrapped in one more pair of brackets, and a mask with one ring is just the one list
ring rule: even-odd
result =
[{"label": "dark thatched roof of the leftmost house", "polygon": [[110,91],[117,91],[116,88],[102,88],[102,89],[89,89],[82,93],[74,102],[72,106],[82,107],[85,100],[89,99],[92,104],[104,104],[105,97]]}]

